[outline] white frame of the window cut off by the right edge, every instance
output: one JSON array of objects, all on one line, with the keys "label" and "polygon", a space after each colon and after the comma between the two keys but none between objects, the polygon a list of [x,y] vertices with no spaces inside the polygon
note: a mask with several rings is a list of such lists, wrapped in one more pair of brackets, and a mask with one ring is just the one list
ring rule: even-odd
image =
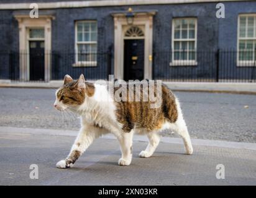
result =
[{"label": "white frame of the window cut off by the right edge", "polygon": [[[254,17],[254,37],[242,37],[240,38],[240,17],[247,17],[246,18],[246,24],[245,24],[245,35],[247,35],[247,20],[248,17]],[[254,67],[255,66],[255,61],[256,61],[256,57],[255,57],[255,51],[252,54],[252,61],[240,61],[239,60],[239,41],[240,40],[255,40],[255,44],[256,45],[256,14],[239,14],[238,15],[238,19],[237,19],[237,67],[241,67],[241,66],[246,66],[246,67]],[[255,50],[255,46],[253,48],[253,50]]]}]

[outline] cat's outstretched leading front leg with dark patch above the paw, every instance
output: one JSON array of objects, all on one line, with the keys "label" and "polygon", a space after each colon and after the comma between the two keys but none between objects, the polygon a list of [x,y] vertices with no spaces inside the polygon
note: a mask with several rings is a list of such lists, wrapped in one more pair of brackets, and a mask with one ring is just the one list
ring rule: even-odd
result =
[{"label": "cat's outstretched leading front leg with dark patch above the paw", "polygon": [[81,127],[75,143],[71,147],[70,154],[65,160],[60,160],[56,164],[57,168],[71,168],[75,161],[91,145],[93,140],[101,136],[101,130],[93,126]]}]

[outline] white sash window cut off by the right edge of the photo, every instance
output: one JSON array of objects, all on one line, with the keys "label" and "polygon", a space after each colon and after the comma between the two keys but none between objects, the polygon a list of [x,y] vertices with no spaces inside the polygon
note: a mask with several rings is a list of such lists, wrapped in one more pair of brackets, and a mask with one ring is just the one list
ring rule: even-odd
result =
[{"label": "white sash window cut off by the right edge of the photo", "polygon": [[240,15],[238,23],[237,66],[255,66],[256,14]]}]

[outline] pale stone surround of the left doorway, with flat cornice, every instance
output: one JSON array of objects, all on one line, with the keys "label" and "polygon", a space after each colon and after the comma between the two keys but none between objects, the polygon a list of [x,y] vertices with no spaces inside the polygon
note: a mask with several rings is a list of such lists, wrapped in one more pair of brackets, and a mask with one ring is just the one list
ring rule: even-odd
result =
[{"label": "pale stone surround of the left doorway, with flat cornice", "polygon": [[31,19],[29,15],[15,15],[19,22],[19,79],[29,80],[29,28],[43,28],[45,31],[45,81],[50,81],[52,51],[52,15],[40,15],[39,19]]}]

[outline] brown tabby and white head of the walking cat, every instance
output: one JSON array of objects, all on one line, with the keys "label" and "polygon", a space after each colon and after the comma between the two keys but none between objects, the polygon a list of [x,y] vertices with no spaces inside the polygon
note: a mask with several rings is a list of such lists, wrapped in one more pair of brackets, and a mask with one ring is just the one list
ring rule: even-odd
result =
[{"label": "brown tabby and white head of the walking cat", "polygon": [[54,107],[57,110],[75,110],[82,105],[88,94],[85,77],[80,75],[78,80],[73,80],[70,75],[65,75],[62,87],[56,92]]}]

